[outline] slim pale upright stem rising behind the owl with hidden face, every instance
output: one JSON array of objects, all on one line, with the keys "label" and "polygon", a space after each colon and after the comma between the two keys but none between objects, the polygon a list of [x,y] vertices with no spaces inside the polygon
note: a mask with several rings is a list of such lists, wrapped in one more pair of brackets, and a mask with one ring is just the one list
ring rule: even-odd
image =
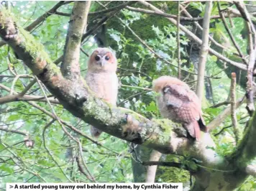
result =
[{"label": "slim pale upright stem rising behind the owl with hidden face", "polygon": [[204,71],[206,70],[206,60],[209,52],[209,27],[210,16],[212,9],[212,1],[206,2],[206,8],[204,10],[204,22],[203,22],[203,34],[202,34],[202,47],[200,52],[200,58],[198,62],[198,75],[196,83],[196,95],[199,101],[202,101],[204,97]]}]

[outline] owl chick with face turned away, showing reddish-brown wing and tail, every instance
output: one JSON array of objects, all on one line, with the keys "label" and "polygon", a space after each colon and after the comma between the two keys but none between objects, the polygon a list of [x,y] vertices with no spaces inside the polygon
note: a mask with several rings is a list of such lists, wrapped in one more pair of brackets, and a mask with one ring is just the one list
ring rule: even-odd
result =
[{"label": "owl chick with face turned away, showing reddish-brown wing and tail", "polygon": [[193,138],[200,139],[200,129],[206,131],[206,126],[196,93],[183,81],[170,76],[154,80],[153,90],[160,94],[157,105],[161,115],[183,124]]}]

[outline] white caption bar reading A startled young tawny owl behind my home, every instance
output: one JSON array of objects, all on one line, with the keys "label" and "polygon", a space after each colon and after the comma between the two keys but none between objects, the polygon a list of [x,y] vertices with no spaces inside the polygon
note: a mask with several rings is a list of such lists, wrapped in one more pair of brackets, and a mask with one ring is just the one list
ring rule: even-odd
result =
[{"label": "white caption bar reading A startled young tawny owl behind my home", "polygon": [[182,191],[182,183],[6,183],[6,191],[55,190],[115,190],[115,191]]}]

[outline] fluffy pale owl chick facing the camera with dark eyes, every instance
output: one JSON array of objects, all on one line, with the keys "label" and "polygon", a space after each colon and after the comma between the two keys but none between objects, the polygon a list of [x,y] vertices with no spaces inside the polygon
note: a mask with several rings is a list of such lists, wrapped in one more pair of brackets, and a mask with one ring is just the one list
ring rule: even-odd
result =
[{"label": "fluffy pale owl chick facing the camera with dark eyes", "polygon": [[[117,60],[111,50],[97,48],[88,60],[86,83],[99,98],[116,106],[118,78],[116,75]],[[99,137],[101,131],[91,126],[91,134]]]}]

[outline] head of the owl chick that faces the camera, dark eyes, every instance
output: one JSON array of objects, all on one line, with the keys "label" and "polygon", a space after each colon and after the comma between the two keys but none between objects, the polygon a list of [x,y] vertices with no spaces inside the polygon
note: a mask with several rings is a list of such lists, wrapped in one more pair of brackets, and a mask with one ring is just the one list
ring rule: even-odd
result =
[{"label": "head of the owl chick that faces the camera, dark eyes", "polygon": [[108,48],[97,48],[91,54],[88,61],[88,70],[99,72],[116,72],[117,60]]}]

